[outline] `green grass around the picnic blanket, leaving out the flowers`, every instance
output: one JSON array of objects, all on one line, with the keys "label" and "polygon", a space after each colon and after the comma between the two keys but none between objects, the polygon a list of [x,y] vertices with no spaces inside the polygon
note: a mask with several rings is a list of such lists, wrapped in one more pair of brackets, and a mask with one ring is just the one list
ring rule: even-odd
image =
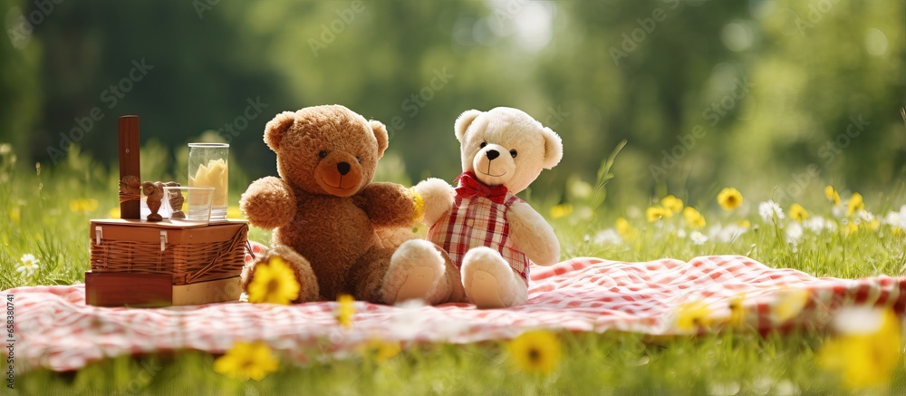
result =
[{"label": "green grass around the picnic blanket, leaving out the flowers", "polygon": [[[109,217],[116,208],[116,176],[85,156],[71,153],[53,169],[14,164],[14,153],[0,150],[0,289],[20,285],[68,285],[84,280],[89,269],[88,220]],[[234,164],[236,162],[234,161]],[[235,166],[235,165],[234,165]],[[115,169],[114,169],[115,171]],[[606,172],[605,172],[606,173]],[[246,181],[247,182],[247,181]],[[575,184],[575,182],[571,182]],[[237,186],[237,184],[233,184]],[[744,208],[727,212],[713,197],[683,197],[700,202],[696,208],[708,227],[743,218],[752,227],[733,241],[711,238],[695,245],[681,214],[649,223],[645,199],[638,208],[597,208],[591,186],[567,186],[565,197],[531,199],[545,216],[555,202],[568,201],[572,210],[550,221],[563,246],[563,256],[601,256],[645,261],[661,257],[687,260],[702,255],[747,255],[768,266],[788,267],[810,275],[861,277],[904,275],[906,237],[893,227],[861,227],[847,234],[842,219],[836,231],[805,230],[788,243],[784,230],[757,215],[757,202],[769,192],[743,190]],[[833,218],[824,186],[806,189],[800,203],[812,215]],[[241,188],[234,188],[237,193]],[[883,219],[906,203],[902,188],[865,192],[866,208]],[[848,193],[844,193],[844,198]],[[88,201],[78,201],[86,199]],[[96,200],[96,206],[91,199]],[[234,199],[235,201],[235,199]],[[76,208],[82,202],[83,207]],[[72,206],[72,208],[71,208]],[[591,210],[589,206],[597,208]],[[73,208],[75,210],[73,210]],[[561,207],[563,208],[563,207]],[[785,210],[787,208],[784,208]],[[591,217],[590,213],[596,213]],[[632,216],[632,215],[635,216]],[[603,234],[617,217],[628,218],[637,236],[608,241]],[[791,227],[788,218],[779,224]],[[672,229],[672,230],[671,230]],[[682,230],[686,236],[681,236]],[[252,238],[267,241],[253,230]],[[39,269],[23,276],[16,271],[21,257],[34,255]],[[241,382],[213,371],[215,356],[185,351],[142,357],[118,357],[92,363],[79,372],[35,370],[16,377],[23,394],[834,394],[842,393],[834,373],[822,371],[814,356],[826,334],[793,333],[761,337],[752,333],[720,333],[699,337],[652,338],[632,333],[561,333],[563,359],[549,376],[513,369],[505,343],[413,345],[386,362],[361,356],[327,357],[318,346],[305,351],[307,363],[281,360],[280,370],[260,382]],[[906,391],[902,361],[890,384],[869,391]]]}]

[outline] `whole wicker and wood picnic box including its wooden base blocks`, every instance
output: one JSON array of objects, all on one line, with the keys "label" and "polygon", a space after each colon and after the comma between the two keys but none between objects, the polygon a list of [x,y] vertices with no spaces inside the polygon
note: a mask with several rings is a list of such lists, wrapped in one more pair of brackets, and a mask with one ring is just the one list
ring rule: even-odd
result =
[{"label": "whole wicker and wood picnic box including its wooden base blocks", "polygon": [[247,233],[244,220],[207,226],[92,220],[86,301],[101,306],[161,306],[236,300]]}]

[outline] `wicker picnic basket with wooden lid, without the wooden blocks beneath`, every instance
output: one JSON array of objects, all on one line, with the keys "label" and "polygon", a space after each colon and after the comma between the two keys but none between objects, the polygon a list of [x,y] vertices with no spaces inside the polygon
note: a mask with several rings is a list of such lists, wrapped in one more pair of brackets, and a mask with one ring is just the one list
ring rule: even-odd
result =
[{"label": "wicker picnic basket with wooden lid, without the wooden blocks beneath", "polygon": [[244,220],[180,227],[130,219],[92,220],[92,272],[166,274],[172,285],[239,275],[245,265]]}]

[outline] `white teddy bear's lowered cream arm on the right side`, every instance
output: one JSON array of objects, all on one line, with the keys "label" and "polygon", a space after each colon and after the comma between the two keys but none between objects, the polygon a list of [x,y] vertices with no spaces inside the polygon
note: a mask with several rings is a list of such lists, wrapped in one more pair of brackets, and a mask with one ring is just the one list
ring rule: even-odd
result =
[{"label": "white teddy bear's lowered cream arm on the right side", "polygon": [[539,266],[552,266],[560,259],[560,241],[545,217],[524,202],[513,204],[506,211],[509,237],[516,248]]}]

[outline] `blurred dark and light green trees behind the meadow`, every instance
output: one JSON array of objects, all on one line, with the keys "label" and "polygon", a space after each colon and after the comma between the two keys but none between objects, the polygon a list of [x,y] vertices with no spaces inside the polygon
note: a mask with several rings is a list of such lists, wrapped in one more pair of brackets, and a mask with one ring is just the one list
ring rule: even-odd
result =
[{"label": "blurred dark and light green trees behind the meadow", "polygon": [[622,140],[606,207],[725,186],[786,205],[906,171],[898,0],[0,5],[0,142],[33,172],[115,173],[117,118],[137,114],[143,179],[185,181],[186,143],[224,140],[238,194],[276,174],[267,121],[331,103],[388,125],[379,179],[403,183],[457,176],[462,111],[527,111],[564,139],[530,191],[554,202]]}]

